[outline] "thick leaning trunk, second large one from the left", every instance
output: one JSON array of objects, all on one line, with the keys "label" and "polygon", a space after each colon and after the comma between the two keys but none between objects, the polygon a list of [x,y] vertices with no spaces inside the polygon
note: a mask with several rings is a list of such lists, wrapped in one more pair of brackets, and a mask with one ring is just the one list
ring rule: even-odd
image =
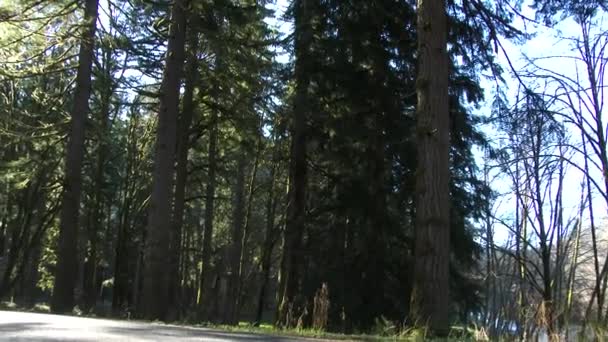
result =
[{"label": "thick leaning trunk, second large one from the left", "polygon": [[149,319],[165,319],[169,294],[169,239],[175,161],[179,88],[185,55],[187,0],[175,0],[156,133],[153,188],[148,212],[140,312]]}]

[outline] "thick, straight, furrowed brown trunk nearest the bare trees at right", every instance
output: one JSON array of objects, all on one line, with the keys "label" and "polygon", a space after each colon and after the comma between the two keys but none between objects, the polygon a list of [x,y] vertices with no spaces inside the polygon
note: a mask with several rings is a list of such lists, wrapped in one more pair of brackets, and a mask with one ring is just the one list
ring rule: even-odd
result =
[{"label": "thick, straight, furrowed brown trunk nearest the bare trees at right", "polygon": [[449,332],[450,188],[447,17],[442,0],[418,0],[418,166],[413,322]]}]

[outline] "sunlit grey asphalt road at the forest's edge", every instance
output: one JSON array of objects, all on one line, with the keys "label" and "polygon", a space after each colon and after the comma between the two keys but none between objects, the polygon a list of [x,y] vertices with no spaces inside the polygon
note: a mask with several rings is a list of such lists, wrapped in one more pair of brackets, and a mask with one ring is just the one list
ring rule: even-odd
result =
[{"label": "sunlit grey asphalt road at the forest's edge", "polygon": [[156,323],[0,311],[0,341],[301,341]]}]

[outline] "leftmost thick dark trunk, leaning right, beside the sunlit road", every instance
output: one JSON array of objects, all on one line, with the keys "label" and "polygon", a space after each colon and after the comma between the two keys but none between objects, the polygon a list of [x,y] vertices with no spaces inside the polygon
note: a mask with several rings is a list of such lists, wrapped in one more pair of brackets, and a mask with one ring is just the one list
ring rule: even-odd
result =
[{"label": "leftmost thick dark trunk, leaning right, beside the sunlit road", "polygon": [[59,218],[57,270],[51,298],[53,312],[70,312],[74,306],[74,287],[78,274],[78,216],[84,159],[84,130],[91,95],[91,69],[94,58],[95,29],[98,0],[87,0],[84,11],[84,31],[78,55],[78,72],[71,127],[66,151],[65,180]]}]

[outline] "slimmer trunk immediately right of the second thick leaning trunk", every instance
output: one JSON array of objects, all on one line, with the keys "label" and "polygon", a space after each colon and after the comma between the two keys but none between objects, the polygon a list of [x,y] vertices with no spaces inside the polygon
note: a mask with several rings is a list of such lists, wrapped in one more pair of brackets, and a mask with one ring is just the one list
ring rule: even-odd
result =
[{"label": "slimmer trunk immediately right of the second thick leaning trunk", "polygon": [[182,257],[182,226],[184,223],[184,207],[186,197],[186,183],[188,178],[188,151],[190,150],[190,126],[194,111],[194,88],[196,87],[198,72],[198,37],[190,34],[190,51],[188,54],[186,82],[182,113],[178,121],[177,138],[177,164],[175,166],[175,197],[173,205],[173,229],[171,232],[171,276],[170,276],[170,306],[174,313],[181,307],[181,276],[180,260]]}]

